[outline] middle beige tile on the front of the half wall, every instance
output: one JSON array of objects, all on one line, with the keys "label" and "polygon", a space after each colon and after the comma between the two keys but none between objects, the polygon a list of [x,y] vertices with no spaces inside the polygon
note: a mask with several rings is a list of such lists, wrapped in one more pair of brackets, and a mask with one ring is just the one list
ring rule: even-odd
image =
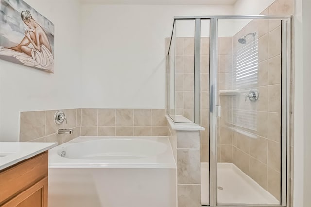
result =
[{"label": "middle beige tile on the front of the half wall", "polygon": [[181,184],[200,184],[200,150],[177,149],[177,180]]}]

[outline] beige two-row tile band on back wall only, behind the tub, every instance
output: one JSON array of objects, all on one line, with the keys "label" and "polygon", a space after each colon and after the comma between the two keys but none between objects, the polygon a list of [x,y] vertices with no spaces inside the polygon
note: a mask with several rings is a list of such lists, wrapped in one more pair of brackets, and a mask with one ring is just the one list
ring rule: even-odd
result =
[{"label": "beige two-row tile band on back wall only, behind the tub", "polygon": [[165,109],[81,109],[81,136],[167,136]]}]

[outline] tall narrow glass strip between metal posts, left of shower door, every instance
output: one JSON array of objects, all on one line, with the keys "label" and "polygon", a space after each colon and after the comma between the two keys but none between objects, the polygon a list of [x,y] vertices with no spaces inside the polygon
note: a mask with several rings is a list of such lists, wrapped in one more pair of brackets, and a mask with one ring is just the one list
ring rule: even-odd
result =
[{"label": "tall narrow glass strip between metal posts, left of shower door", "polygon": [[200,132],[201,203],[209,205],[209,20],[201,20]]}]

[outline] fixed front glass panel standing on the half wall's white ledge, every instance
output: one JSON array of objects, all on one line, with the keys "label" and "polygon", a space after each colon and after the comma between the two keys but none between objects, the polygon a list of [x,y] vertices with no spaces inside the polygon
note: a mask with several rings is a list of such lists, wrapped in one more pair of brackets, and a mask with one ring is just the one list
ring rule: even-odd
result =
[{"label": "fixed front glass panel standing on the half wall's white ledge", "polygon": [[195,20],[176,20],[176,122],[194,123]]}]

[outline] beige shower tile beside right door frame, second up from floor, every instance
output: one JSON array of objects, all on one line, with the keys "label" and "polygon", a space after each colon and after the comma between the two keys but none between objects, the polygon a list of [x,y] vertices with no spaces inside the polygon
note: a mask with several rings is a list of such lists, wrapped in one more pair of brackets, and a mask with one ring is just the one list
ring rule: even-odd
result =
[{"label": "beige shower tile beside right door frame, second up from floor", "polygon": [[268,166],[281,171],[281,144],[275,141],[268,141]]}]

